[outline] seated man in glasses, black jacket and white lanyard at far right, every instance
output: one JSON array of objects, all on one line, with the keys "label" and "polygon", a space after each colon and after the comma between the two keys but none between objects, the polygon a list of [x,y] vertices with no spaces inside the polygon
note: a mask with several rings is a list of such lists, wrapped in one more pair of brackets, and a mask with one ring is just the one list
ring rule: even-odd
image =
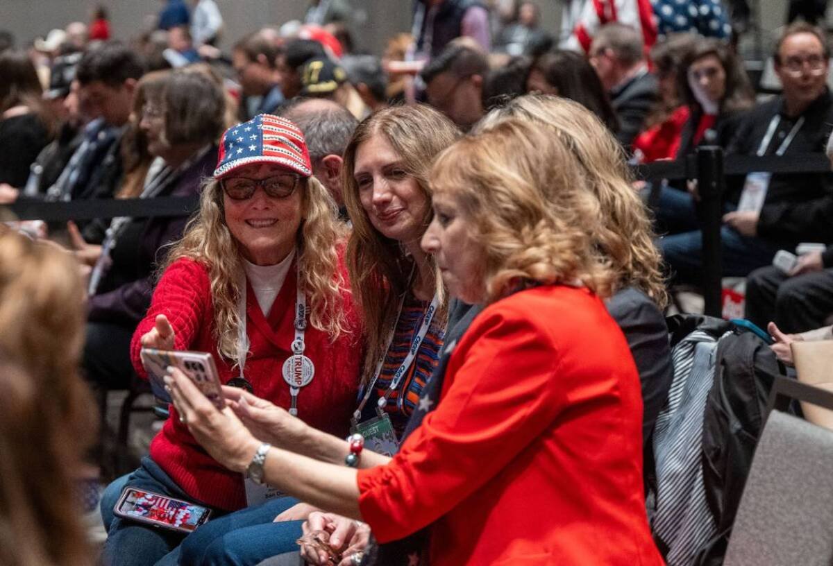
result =
[{"label": "seated man in glasses, black jacket and white lanyard at far right", "polygon": [[[833,128],[833,97],[827,88],[830,51],[823,32],[806,23],[788,27],[774,58],[783,92],[747,113],[727,154],[825,151]],[[769,266],[778,250],[795,251],[801,242],[833,241],[830,174],[751,171],[727,177],[724,201],[730,210],[721,227],[723,276],[745,277]],[[700,231],[666,236],[660,246],[676,281],[700,281]]]}]

